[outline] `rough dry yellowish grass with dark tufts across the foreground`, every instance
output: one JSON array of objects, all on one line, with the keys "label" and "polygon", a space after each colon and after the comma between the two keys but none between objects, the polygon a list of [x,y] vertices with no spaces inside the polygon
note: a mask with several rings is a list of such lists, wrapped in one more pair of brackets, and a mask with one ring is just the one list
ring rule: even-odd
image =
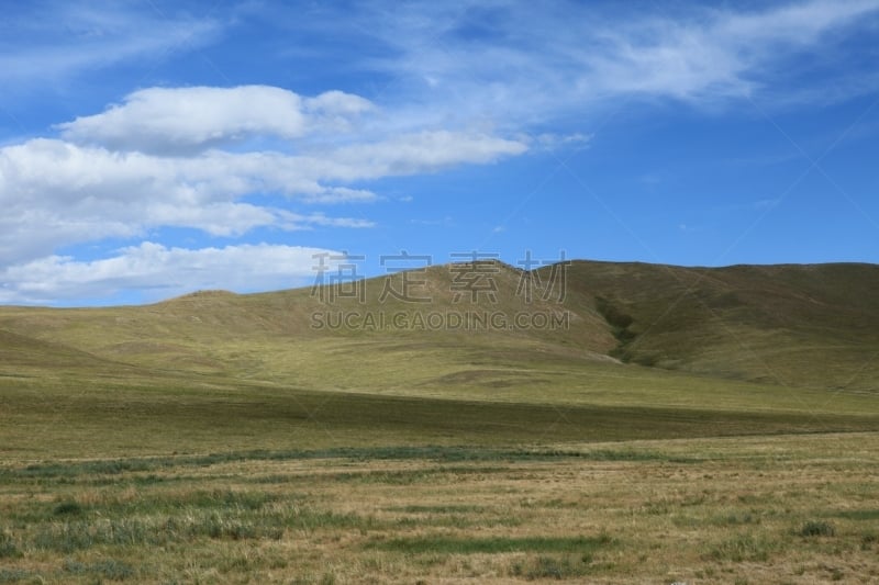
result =
[{"label": "rough dry yellowish grass with dark tufts across the foreground", "polygon": [[0,583],[874,583],[879,434],[7,461]]}]

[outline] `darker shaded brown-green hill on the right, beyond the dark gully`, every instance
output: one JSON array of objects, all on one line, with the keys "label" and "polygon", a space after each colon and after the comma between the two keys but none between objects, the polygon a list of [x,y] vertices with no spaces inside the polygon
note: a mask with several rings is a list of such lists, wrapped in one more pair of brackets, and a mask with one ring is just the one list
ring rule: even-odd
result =
[{"label": "darker shaded brown-green hill on the right, beyond the dark gully", "polygon": [[879,385],[879,267],[679,268],[575,262],[574,307],[596,307],[624,361],[781,385]]}]

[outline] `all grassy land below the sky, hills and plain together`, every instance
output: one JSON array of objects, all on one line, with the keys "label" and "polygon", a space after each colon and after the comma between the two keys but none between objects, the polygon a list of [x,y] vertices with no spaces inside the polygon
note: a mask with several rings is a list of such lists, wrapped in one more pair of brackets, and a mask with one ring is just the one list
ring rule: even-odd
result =
[{"label": "all grassy land below the sky, hills and plain together", "polygon": [[494,269],[468,311],[569,327],[0,307],[0,583],[879,578],[877,267]]}]

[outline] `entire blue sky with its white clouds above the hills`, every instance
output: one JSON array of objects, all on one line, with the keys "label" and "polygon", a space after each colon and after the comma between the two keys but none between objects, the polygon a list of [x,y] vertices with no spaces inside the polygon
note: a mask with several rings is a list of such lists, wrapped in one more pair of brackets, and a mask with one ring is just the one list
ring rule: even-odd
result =
[{"label": "entire blue sky with its white clouds above the hills", "polygon": [[407,250],[879,262],[879,1],[19,2],[0,303]]}]

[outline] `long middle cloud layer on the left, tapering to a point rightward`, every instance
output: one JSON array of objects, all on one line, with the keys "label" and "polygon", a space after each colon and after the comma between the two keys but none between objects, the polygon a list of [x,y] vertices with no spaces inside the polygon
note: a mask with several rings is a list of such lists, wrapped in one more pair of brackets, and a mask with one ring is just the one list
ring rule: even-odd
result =
[{"label": "long middle cloud layer on the left, tapering to a point rightward", "polygon": [[369,220],[298,214],[242,200],[275,193],[303,204],[374,201],[371,191],[347,184],[491,162],[526,148],[522,142],[446,131],[311,155],[210,149],[156,156],[33,139],[0,148],[0,266],[162,226],[214,236],[243,236],[263,226],[371,227]]}]

